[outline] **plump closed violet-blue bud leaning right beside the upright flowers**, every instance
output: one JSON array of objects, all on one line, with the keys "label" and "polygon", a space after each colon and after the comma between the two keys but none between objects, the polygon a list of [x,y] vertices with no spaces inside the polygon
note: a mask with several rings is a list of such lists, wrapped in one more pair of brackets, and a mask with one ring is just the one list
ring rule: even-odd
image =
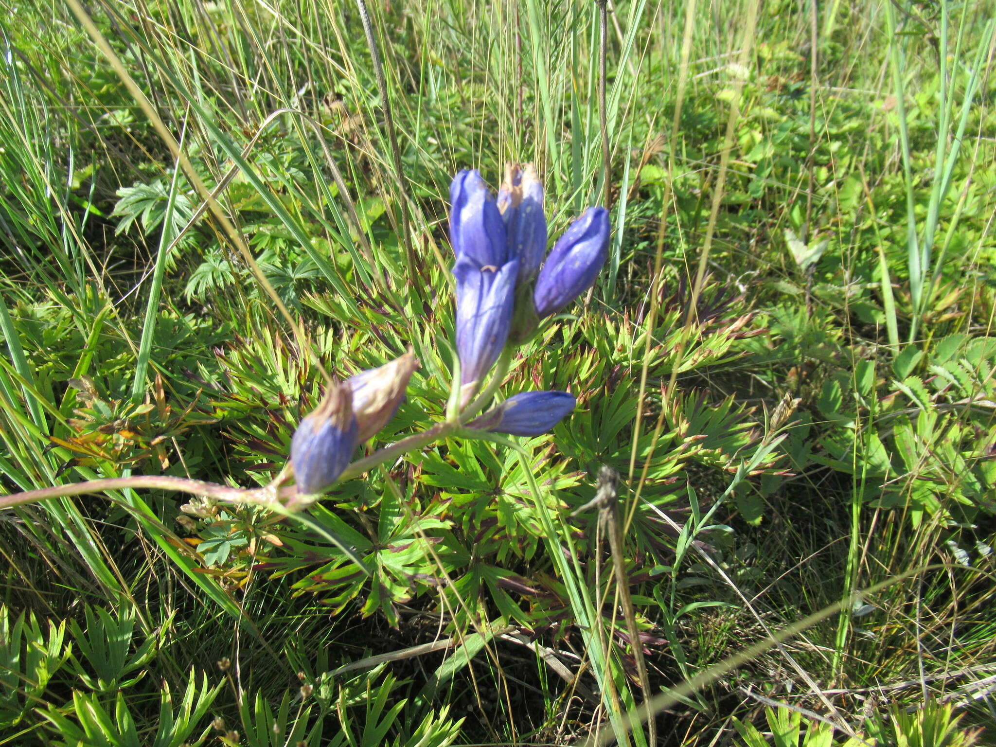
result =
[{"label": "plump closed violet-blue bud leaning right beside the upright flowers", "polygon": [[592,287],[609,256],[609,230],[609,211],[590,207],[557,239],[533,292],[541,318],[556,314]]}]

